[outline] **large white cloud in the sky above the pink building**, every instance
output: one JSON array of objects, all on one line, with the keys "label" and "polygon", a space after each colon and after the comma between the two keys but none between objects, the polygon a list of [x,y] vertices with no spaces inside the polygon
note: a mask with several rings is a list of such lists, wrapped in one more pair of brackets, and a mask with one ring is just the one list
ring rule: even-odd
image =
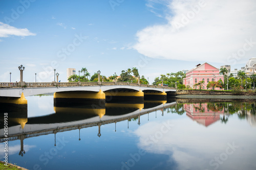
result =
[{"label": "large white cloud in the sky above the pink building", "polygon": [[[243,48],[245,39],[256,41],[254,0],[205,1],[200,10],[195,8],[200,0],[148,1],[160,2],[168,8],[165,13],[168,22],[137,33],[138,42],[133,47],[145,56],[227,63],[232,53]],[[153,5],[148,7],[153,9]],[[187,16],[190,19],[185,20]],[[177,27],[179,23],[183,25],[181,28]],[[247,61],[255,53],[256,43],[237,61]]]}]

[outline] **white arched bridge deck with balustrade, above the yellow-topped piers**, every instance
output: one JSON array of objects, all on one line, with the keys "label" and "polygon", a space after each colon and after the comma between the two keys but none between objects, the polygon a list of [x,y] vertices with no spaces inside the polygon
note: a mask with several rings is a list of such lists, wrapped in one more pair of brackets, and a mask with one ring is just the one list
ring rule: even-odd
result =
[{"label": "white arched bridge deck with balustrade, above the yellow-topped piers", "polygon": [[[143,92],[144,94],[160,94],[167,95],[168,92],[175,92],[176,88],[155,86],[140,83],[129,82],[38,82],[25,83],[24,86],[18,86],[18,83],[0,83],[0,96],[20,98],[37,94],[54,93],[54,92],[70,92],[70,91],[90,91],[90,92]],[[106,94],[107,95],[107,94]]]}]

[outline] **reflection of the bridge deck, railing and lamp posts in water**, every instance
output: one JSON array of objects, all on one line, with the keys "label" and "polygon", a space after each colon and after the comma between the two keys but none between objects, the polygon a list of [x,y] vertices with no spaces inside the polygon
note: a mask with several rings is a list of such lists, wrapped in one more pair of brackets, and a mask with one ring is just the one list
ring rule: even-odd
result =
[{"label": "reflection of the bridge deck, railing and lamp posts in water", "polygon": [[[172,103],[153,103],[154,107],[149,107],[145,103],[145,107],[143,109],[137,109],[135,111],[132,111],[127,114],[121,114],[121,115],[90,115],[89,118],[86,119],[79,119],[78,120],[70,120],[70,122],[55,122],[55,123],[49,123],[46,122],[47,118],[42,118],[44,116],[40,117],[31,117],[31,118],[16,118],[16,125],[8,128],[8,137],[5,138],[4,136],[0,136],[0,142],[5,141],[13,141],[13,140],[20,140],[20,152],[19,155],[25,154],[24,151],[24,139],[41,136],[41,135],[48,135],[48,134],[55,134],[55,145],[56,145],[56,134],[59,132],[66,132],[66,131],[72,131],[79,129],[79,140],[80,140],[80,129],[83,128],[89,128],[89,127],[95,127],[98,126],[98,136],[101,136],[100,128],[102,125],[106,124],[112,124],[112,123],[118,123],[123,120],[128,120],[128,128],[129,128],[129,120],[135,117],[138,117],[138,125],[140,125],[140,116],[144,114],[149,114],[151,112],[157,111],[157,110],[163,110],[165,108],[168,108],[170,106],[175,105],[176,102]],[[112,106],[113,107],[113,106]],[[55,116],[57,113],[48,115],[48,116]],[[62,114],[59,114],[59,116],[62,116]],[[75,116],[72,114],[72,116]],[[31,120],[31,121],[30,121]],[[29,124],[27,122],[32,122],[33,124]],[[26,124],[27,123],[27,124]],[[17,125],[20,124],[20,125]],[[26,124],[26,125],[25,125]],[[22,128],[22,125],[25,125]],[[115,126],[116,127],[116,126]],[[0,134],[4,134],[4,129],[0,129]]]}]

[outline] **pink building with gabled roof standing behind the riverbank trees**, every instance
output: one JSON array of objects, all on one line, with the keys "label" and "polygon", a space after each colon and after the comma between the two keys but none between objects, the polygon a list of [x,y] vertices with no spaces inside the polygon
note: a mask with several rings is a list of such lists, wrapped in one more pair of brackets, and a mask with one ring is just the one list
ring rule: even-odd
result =
[{"label": "pink building with gabled roof standing behind the riverbank trees", "polygon": [[[209,82],[217,82],[219,80],[224,81],[224,76],[220,75],[219,69],[208,64],[198,64],[196,68],[190,69],[186,72],[186,78],[183,79],[183,84],[185,86],[190,86],[194,88],[193,85],[199,83],[204,80],[204,84],[202,84],[202,89],[207,89],[207,84]],[[197,89],[198,87],[195,87]],[[216,90],[220,90],[220,88],[215,87]]]}]

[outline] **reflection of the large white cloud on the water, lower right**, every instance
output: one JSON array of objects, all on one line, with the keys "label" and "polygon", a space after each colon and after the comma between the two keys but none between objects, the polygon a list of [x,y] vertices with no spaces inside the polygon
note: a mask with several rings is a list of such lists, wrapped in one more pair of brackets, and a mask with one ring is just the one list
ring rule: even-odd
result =
[{"label": "reflection of the large white cloud on the water, lower right", "polygon": [[[165,123],[167,123],[167,120],[165,120]],[[134,133],[139,137],[139,149],[148,153],[168,155],[170,162],[177,162],[177,169],[212,169],[212,167],[209,167],[209,161],[225,152],[228,142],[232,143],[234,141],[236,145],[239,145],[239,143],[243,144],[244,141],[250,141],[252,136],[251,129],[241,130],[241,125],[238,125],[238,122],[234,122],[230,127],[216,123],[206,128],[185,118],[172,120],[172,124],[174,127],[167,133],[163,133],[161,137],[155,137],[155,142],[148,139],[161,132],[163,123],[150,122],[144,124]],[[247,130],[249,132],[246,132]],[[250,151],[238,149],[234,154],[229,155],[225,164],[221,165],[222,169],[232,169],[232,162],[241,162],[241,154],[248,154],[246,157],[253,157],[256,150],[251,151],[250,148],[253,148],[253,145],[253,140],[251,140],[246,143],[246,149],[249,148]],[[252,159],[247,161],[251,164],[254,163]],[[242,165],[238,165],[237,169],[243,169]]]}]

